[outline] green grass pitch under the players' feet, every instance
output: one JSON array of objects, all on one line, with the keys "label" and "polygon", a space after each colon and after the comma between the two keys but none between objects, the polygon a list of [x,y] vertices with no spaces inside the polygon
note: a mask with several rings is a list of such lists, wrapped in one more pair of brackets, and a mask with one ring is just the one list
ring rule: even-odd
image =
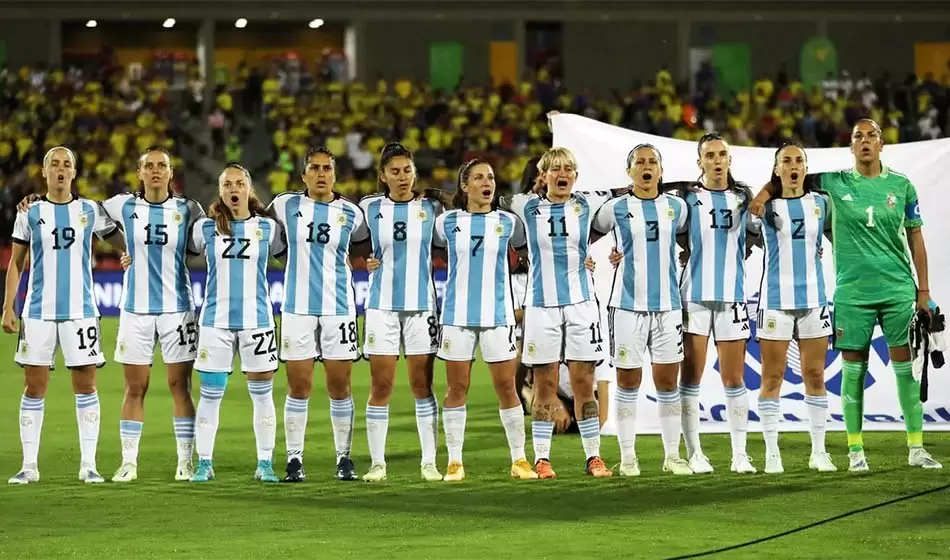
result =
[{"label": "green grass pitch under the players' feet", "polygon": [[[114,351],[114,320],[103,321],[103,349]],[[0,338],[7,365],[0,377],[0,475],[20,467],[16,424],[22,387],[13,365],[16,338]],[[484,375],[478,375],[482,373]],[[321,379],[322,371],[318,374]],[[705,436],[717,472],[674,478],[660,473],[660,442],[641,437],[644,473],[637,479],[592,480],[583,475],[577,436],[556,438],[559,479],[514,481],[504,432],[487,372],[476,369],[468,405],[465,467],[459,484],[419,479],[419,442],[411,394],[400,373],[391,411],[389,481],[379,485],[333,479],[332,435],[323,383],[315,383],[307,438],[308,482],[262,485],[255,467],[251,403],[234,376],[224,399],[215,447],[218,480],[175,483],[171,401],[164,372],[152,381],[139,457],[139,480],[86,486],[79,466],[76,417],[69,380],[53,374],[46,399],[40,470],[42,482],[0,487],[0,558],[669,558],[739,545],[809,524],[794,532],[717,556],[723,558],[947,558],[950,492],[913,499],[832,520],[889,500],[942,487],[950,471],[906,466],[902,434],[866,435],[874,471],[863,476],[808,471],[806,434],[782,439],[785,475],[739,477],[728,472],[728,436]],[[436,365],[438,394],[444,370]],[[275,400],[282,418],[285,381],[278,372]],[[369,368],[353,373],[357,402],[354,460],[368,465],[362,403]],[[119,465],[122,371],[100,371],[102,431],[99,467],[111,478]],[[932,434],[938,460],[950,456],[950,438]],[[440,437],[441,441],[441,437]],[[530,434],[529,434],[530,458]],[[845,440],[830,433],[836,464],[846,467]],[[277,461],[282,464],[283,428]],[[750,435],[761,468],[764,445]],[[619,460],[614,438],[604,438],[608,464]],[[445,467],[444,448],[439,466]]]}]

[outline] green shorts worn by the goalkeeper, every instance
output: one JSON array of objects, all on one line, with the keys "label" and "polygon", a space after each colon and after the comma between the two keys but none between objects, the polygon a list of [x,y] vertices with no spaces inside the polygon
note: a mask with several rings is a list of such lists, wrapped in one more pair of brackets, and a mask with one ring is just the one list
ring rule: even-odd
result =
[{"label": "green shorts worn by the goalkeeper", "polygon": [[835,349],[867,350],[874,325],[880,323],[889,348],[907,346],[910,323],[917,311],[915,301],[856,305],[835,302]]}]

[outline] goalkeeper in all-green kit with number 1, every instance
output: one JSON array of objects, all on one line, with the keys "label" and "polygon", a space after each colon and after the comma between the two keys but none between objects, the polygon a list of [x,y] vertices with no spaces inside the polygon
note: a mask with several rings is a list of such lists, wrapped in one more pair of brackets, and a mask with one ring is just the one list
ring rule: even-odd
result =
[{"label": "goalkeeper in all-green kit with number 1", "polygon": [[[881,162],[881,128],[858,121],[851,133],[854,168],[808,177],[832,202],[836,284],[835,347],[844,362],[841,402],[848,432],[851,471],[867,471],[864,440],[864,380],[874,326],[881,324],[897,376],[897,396],[907,428],[907,462],[939,469],[923,447],[920,383],[914,378],[909,329],[918,312],[930,314],[927,251],[920,228],[917,190],[910,180]],[[749,210],[764,213],[772,197],[763,188]],[[909,248],[909,254],[908,254]],[[911,271],[911,262],[917,282]]]}]

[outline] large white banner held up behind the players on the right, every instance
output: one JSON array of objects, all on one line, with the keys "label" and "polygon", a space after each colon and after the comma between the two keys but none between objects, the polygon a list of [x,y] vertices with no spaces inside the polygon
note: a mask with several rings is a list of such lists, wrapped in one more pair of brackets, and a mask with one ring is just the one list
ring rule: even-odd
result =
[{"label": "large white banner held up behind the players on the right", "polygon": [[[666,181],[694,180],[699,176],[696,143],[643,134],[611,126],[576,115],[556,115],[553,119],[554,145],[570,149],[577,157],[578,190],[606,190],[629,183],[626,175],[627,153],[637,144],[650,143],[663,156],[663,178]],[[832,171],[852,166],[848,148],[810,149],[809,172]],[[732,173],[736,180],[753,187],[753,191],[768,181],[773,166],[772,148],[732,148]],[[943,240],[950,239],[950,220],[940,210],[950,211],[945,201],[943,184],[950,177],[950,138],[926,142],[912,142],[886,146],[882,154],[884,163],[907,175],[917,187],[924,234],[929,240],[930,287],[934,301],[950,309],[950,251],[941,250]],[[943,194],[941,194],[943,192]],[[603,239],[591,248],[598,266],[595,283],[601,301],[606,301],[610,290],[612,269],[607,262],[611,241]],[[834,289],[834,262],[831,248],[824,251],[826,284],[829,297]],[[762,254],[755,249],[746,264],[749,315],[754,320],[758,301],[758,279],[762,274]],[[868,274],[874,274],[869,270]],[[754,340],[755,324],[752,324],[753,339],[746,354],[745,383],[749,390],[750,430],[758,431],[758,416],[755,413],[761,364],[759,345]],[[795,365],[797,352],[789,352],[789,369],[785,373],[781,402],[784,431],[807,431],[807,413],[804,404],[805,386]],[[706,373],[703,376],[701,406],[703,431],[727,432],[725,418],[725,394],[718,375],[718,362],[714,347],[709,348]],[[872,341],[868,378],[864,395],[865,430],[902,430],[903,420],[897,400],[894,374],[888,365],[887,344],[878,328]],[[644,367],[641,400],[637,411],[637,431],[659,433],[659,418],[655,403],[655,389],[649,366]],[[838,352],[829,351],[825,367],[825,383],[828,388],[828,405],[831,421],[829,429],[843,430],[841,416],[841,358]],[[612,399],[612,396],[611,396]],[[649,400],[651,403],[647,403]],[[613,410],[611,409],[611,412]],[[930,398],[924,403],[925,429],[950,430],[950,366],[933,370],[930,375]],[[605,433],[615,434],[613,414],[605,426]]]}]

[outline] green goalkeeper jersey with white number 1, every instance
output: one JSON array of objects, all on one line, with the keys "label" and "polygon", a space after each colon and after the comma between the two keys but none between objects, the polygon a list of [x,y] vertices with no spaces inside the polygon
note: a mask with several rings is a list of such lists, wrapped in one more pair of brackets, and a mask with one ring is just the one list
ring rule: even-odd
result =
[{"label": "green goalkeeper jersey with white number 1", "polygon": [[832,203],[835,302],[875,305],[913,301],[907,228],[923,225],[917,189],[883,164],[868,179],[854,169],[820,173]]}]

